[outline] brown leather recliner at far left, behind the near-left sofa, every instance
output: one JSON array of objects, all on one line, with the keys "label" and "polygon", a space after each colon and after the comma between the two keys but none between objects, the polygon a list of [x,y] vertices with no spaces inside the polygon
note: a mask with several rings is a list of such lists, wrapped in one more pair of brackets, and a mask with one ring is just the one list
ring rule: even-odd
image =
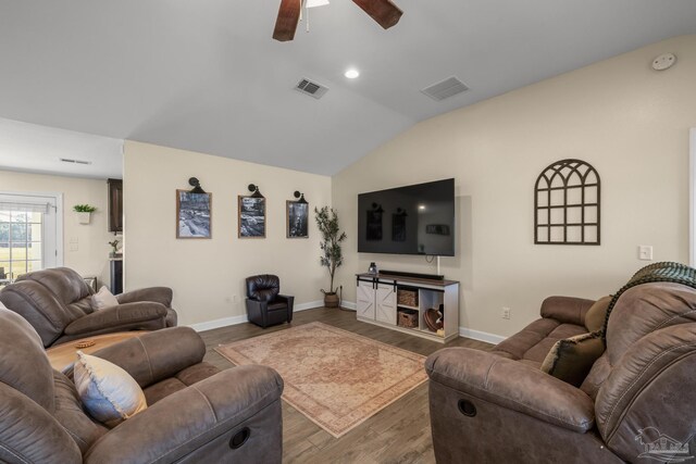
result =
[{"label": "brown leather recliner at far left, behind the near-left sofa", "polygon": [[121,293],[117,306],[97,311],[92,294],[75,271],[55,267],[21,276],[0,291],[0,301],[32,324],[46,348],[100,334],[176,326],[171,288]]}]

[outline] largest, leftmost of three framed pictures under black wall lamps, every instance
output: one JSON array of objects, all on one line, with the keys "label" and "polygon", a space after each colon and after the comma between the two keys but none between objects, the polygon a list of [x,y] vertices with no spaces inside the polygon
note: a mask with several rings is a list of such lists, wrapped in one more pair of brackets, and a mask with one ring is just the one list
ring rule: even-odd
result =
[{"label": "largest, leftmost of three framed pictures under black wall lamps", "polygon": [[212,193],[176,190],[176,238],[211,238]]}]

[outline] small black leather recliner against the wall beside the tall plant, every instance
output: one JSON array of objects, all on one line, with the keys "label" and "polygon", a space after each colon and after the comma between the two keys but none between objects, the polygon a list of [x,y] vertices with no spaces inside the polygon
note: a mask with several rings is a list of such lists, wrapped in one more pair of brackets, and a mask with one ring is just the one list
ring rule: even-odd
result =
[{"label": "small black leather recliner against the wall beside the tall plant", "polygon": [[295,297],[279,294],[281,279],[272,274],[247,277],[247,318],[263,328],[293,322]]}]

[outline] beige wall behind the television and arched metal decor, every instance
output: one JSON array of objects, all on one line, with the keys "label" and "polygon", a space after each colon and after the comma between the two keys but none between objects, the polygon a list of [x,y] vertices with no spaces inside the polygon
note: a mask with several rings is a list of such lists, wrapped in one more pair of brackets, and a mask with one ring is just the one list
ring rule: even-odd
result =
[{"label": "beige wall behind the television and arched metal decor", "polygon": [[[664,52],[664,72],[650,68]],[[460,326],[508,336],[549,294],[598,298],[655,260],[688,261],[688,128],[696,126],[696,36],[602,61],[418,124],[333,178],[348,233],[340,281],[382,268],[434,273],[422,256],[357,253],[359,192],[456,178]],[[533,244],[533,188],[548,164],[579,158],[601,176],[601,246]],[[502,306],[512,318],[500,317]]]}]

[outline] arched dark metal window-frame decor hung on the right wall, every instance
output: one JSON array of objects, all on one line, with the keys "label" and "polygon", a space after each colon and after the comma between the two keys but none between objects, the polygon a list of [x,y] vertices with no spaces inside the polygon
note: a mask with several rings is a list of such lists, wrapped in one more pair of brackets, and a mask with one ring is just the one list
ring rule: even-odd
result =
[{"label": "arched dark metal window-frame decor hung on the right wall", "polygon": [[534,186],[534,243],[599,244],[599,174],[582,160],[546,167]]}]

